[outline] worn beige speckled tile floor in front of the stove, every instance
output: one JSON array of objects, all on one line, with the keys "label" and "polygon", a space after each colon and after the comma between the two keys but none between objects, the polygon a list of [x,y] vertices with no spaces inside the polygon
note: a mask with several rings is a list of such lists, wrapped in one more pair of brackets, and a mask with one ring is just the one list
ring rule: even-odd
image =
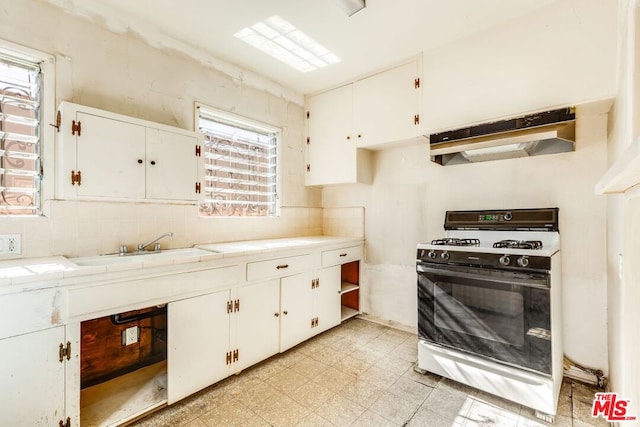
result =
[{"label": "worn beige speckled tile floor in front of the stove", "polygon": [[[413,370],[414,334],[351,319],[136,426],[544,426],[533,411]],[[606,426],[596,390],[565,380],[557,426]]]}]

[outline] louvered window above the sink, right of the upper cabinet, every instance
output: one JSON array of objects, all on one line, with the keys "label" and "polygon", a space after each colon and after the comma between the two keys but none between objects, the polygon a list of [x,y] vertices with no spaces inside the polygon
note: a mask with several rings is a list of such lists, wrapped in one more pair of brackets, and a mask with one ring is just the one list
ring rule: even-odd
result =
[{"label": "louvered window above the sink, right of the upper cabinet", "polygon": [[205,185],[200,214],[276,216],[280,130],[202,105]]}]

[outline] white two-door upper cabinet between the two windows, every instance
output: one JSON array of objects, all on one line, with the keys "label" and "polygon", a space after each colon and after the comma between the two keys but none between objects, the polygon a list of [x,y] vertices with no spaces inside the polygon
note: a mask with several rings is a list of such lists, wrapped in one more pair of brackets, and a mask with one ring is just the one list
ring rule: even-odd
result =
[{"label": "white two-door upper cabinet between the two windows", "polygon": [[59,111],[57,198],[199,200],[197,133],[68,102]]}]

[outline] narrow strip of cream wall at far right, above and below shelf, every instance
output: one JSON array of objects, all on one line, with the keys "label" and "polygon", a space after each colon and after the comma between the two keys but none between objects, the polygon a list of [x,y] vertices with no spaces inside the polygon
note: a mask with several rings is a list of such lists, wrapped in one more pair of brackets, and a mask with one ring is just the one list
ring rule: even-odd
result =
[{"label": "narrow strip of cream wall at far right, above and below shelf", "polygon": [[[640,138],[640,2],[620,0],[618,88],[609,120],[609,165]],[[640,416],[640,185],[607,195],[610,388]],[[627,424],[627,423],[625,423]]]}]

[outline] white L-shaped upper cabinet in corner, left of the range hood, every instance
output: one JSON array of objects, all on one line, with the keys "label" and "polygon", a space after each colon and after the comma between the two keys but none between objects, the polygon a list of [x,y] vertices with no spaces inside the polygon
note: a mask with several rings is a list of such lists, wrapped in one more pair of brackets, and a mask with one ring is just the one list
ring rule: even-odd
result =
[{"label": "white L-shaped upper cabinet in corner, left of the range hood", "polygon": [[372,149],[424,138],[417,60],[307,98],[306,185],[372,179]]}]

